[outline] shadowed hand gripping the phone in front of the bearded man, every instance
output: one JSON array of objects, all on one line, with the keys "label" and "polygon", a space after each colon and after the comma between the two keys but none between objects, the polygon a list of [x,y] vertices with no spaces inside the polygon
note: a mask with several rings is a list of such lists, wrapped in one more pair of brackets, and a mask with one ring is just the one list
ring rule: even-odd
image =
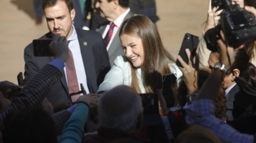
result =
[{"label": "shadowed hand gripping the phone in front of the bearded man", "polygon": [[59,37],[55,35],[49,45],[49,48],[55,58],[60,58],[63,62],[67,60],[68,47],[66,37]]}]

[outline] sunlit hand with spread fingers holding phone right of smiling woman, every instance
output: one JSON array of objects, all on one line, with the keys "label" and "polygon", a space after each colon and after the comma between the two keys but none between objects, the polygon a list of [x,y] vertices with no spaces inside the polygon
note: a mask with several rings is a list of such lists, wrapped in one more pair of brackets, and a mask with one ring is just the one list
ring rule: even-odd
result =
[{"label": "sunlit hand with spread fingers holding phone right of smiling woman", "polygon": [[188,94],[191,94],[195,91],[197,91],[197,70],[193,68],[192,61],[190,60],[191,52],[189,49],[185,49],[187,57],[189,59],[189,64],[184,62],[180,56],[177,57],[177,60],[180,62],[183,68],[179,67],[183,74],[183,79],[185,81],[185,84],[187,85],[187,89],[189,91]]}]

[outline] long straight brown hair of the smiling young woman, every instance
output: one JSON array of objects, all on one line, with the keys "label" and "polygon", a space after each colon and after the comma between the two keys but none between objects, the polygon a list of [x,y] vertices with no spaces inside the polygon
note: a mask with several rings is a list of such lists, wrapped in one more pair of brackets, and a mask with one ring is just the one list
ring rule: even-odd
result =
[{"label": "long straight brown hair of the smiling young woman", "polygon": [[[174,58],[163,47],[161,37],[155,24],[146,16],[137,15],[125,20],[120,28],[121,35],[140,37],[144,50],[144,63],[142,65],[142,79],[146,92],[156,92],[162,84],[162,76],[171,73],[169,63]],[[135,67],[131,65],[131,87],[140,93]]]}]

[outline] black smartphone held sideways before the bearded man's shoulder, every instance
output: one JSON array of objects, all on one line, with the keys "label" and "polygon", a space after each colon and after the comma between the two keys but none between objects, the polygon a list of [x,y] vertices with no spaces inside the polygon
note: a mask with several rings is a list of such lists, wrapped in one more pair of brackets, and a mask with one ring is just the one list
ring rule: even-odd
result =
[{"label": "black smartphone held sideways before the bearded man's shoulder", "polygon": [[49,45],[51,42],[52,39],[34,39],[34,56],[53,56],[49,49]]}]

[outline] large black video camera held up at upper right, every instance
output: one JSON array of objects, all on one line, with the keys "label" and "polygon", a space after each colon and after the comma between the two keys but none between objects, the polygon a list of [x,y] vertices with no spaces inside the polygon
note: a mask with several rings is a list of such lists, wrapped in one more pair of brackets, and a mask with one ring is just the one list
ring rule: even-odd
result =
[{"label": "large black video camera held up at upper right", "polygon": [[221,38],[220,30],[223,30],[227,45],[234,48],[256,39],[256,21],[252,14],[239,5],[231,5],[229,0],[212,0],[212,7],[217,6],[223,9],[223,12],[220,23],[207,30],[204,35],[208,49],[212,52],[218,51],[217,40]]}]

